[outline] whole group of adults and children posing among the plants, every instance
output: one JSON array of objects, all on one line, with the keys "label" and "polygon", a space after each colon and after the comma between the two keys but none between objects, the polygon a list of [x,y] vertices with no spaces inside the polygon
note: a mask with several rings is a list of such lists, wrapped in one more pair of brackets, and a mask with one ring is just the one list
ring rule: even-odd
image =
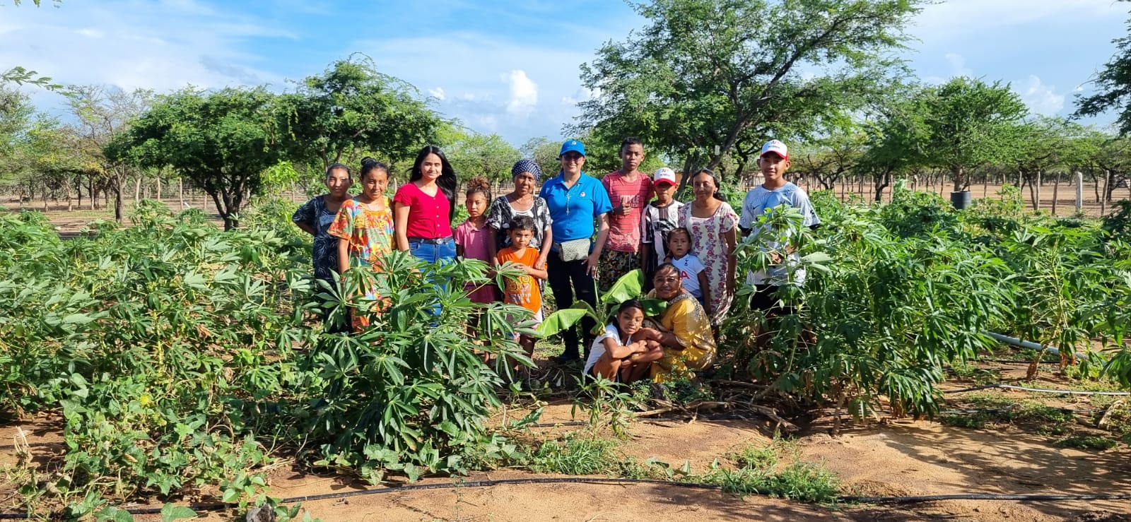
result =
[{"label": "whole group of adults and children posing among the plants", "polygon": [[[598,288],[607,290],[631,270],[642,269],[651,287],[648,296],[667,302],[662,315],[649,322],[640,302],[622,303],[599,336],[590,333],[596,330],[592,320],[581,321],[580,336],[573,328],[564,330],[564,349],[554,359],[580,362],[584,341],[586,374],[659,382],[706,368],[714,359],[714,331],[735,290],[740,233],[749,234],[760,226],[759,216],[783,203],[797,208],[806,226],[820,220],[805,192],[785,181],[788,151],[777,140],[762,148],[759,165],[766,182],[746,194],[741,218],[719,194],[718,177],[710,169],[691,175],[694,198],[683,203],[674,199],[674,171],[664,167],[651,176],[639,171],[645,158],[639,139],[627,138],[619,156],[621,168],[598,180],[582,172],[585,145],[568,140],[558,157],[558,174],[541,189],[542,169],[529,159],[513,165],[513,189],[494,199],[485,179],[473,179],[464,193],[468,218],[456,227],[456,173],[439,148],[428,146],[417,154],[408,182],[391,201],[385,195],[389,167],[366,157],[361,193],[349,195],[352,169],[334,164],[326,173],[329,193],[308,201],[293,220],[314,236],[314,275],[331,285],[335,271],[363,267],[380,272],[381,256],[392,249],[430,263],[510,262],[525,273],[504,288],[468,288],[468,297],[525,306],[539,322],[543,281],[558,308],[572,306],[575,299],[596,306]],[[796,262],[787,245],[770,247],[780,247],[772,254],[776,262]],[[748,275],[758,290],[751,307],[768,313],[776,307],[772,287],[786,279],[775,272]],[[365,298],[378,296],[370,289]],[[355,331],[368,327],[363,314],[354,315]],[[520,342],[533,355],[534,340]]]}]

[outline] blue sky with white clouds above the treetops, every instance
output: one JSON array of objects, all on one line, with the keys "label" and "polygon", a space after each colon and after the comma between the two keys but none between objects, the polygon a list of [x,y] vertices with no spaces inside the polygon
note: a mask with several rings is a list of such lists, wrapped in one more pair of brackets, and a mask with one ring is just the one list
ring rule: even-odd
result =
[{"label": "blue sky with white clouds above the treetops", "polygon": [[[50,1],[0,0],[0,68],[127,89],[282,89],[361,52],[441,113],[516,146],[560,138],[588,96],[578,66],[644,25],[618,0]],[[1113,0],[943,1],[916,18],[905,58],[925,81],[1000,79],[1031,111],[1067,114],[1114,52],[1111,40],[1126,34],[1126,17],[1128,5]],[[55,95],[33,96],[46,111],[62,106]]]}]

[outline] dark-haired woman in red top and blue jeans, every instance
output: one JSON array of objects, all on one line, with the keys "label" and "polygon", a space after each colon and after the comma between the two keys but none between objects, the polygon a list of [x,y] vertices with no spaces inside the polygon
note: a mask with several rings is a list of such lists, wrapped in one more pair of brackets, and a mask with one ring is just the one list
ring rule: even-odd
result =
[{"label": "dark-haired woman in red top and blue jeans", "polygon": [[421,149],[408,183],[392,198],[397,249],[428,263],[456,259],[451,217],[456,214],[456,171],[440,148]]}]

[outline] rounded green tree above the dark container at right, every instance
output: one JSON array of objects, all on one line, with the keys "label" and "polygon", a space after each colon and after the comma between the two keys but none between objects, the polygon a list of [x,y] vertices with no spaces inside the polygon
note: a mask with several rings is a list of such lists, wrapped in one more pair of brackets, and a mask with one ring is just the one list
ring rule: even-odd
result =
[{"label": "rounded green tree above the dark container at right", "polygon": [[970,168],[1015,163],[1022,153],[1025,103],[1009,85],[958,77],[920,92],[925,132],[915,143],[924,166],[950,171],[955,192],[969,186]]}]

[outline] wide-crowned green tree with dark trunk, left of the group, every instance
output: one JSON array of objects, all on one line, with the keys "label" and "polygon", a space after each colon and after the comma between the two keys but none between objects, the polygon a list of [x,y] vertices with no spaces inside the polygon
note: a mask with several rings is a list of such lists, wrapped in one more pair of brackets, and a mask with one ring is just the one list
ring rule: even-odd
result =
[{"label": "wide-crowned green tree with dark trunk, left of the group", "polygon": [[239,226],[243,203],[261,193],[262,173],[283,157],[275,96],[262,87],[158,96],[106,156],[141,167],[172,167],[211,197],[224,229]]}]

